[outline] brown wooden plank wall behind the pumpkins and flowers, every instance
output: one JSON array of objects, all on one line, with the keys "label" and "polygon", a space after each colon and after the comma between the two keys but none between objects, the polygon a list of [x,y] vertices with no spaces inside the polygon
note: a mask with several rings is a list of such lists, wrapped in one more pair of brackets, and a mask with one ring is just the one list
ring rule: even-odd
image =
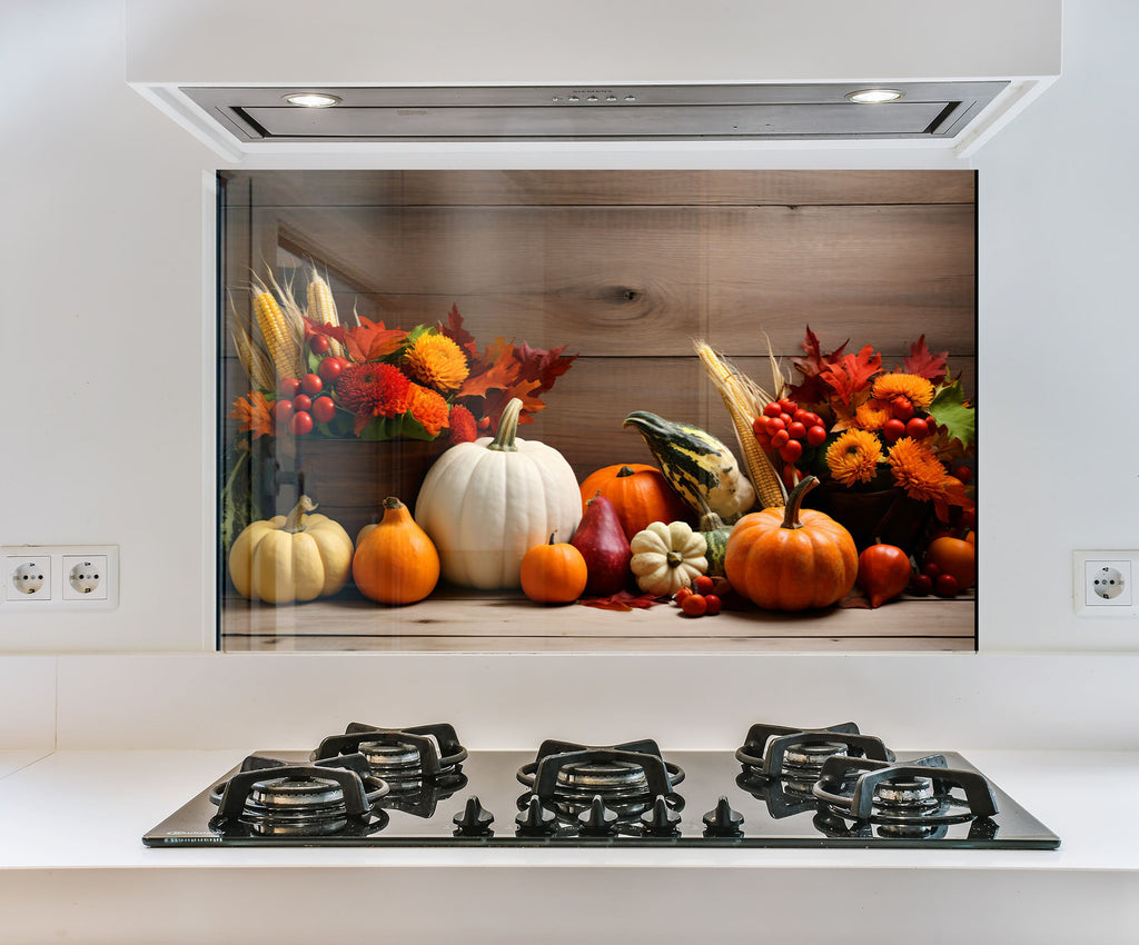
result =
[{"label": "brown wooden plank wall behind the pumpkins and flowers", "polygon": [[[734,443],[693,355],[707,338],[763,386],[810,324],[887,367],[925,335],[975,395],[972,171],[227,172],[226,280],[278,247],[335,277],[342,310],[410,328],[458,305],[495,336],[581,354],[523,430],[579,477],[649,461],[633,410]],[[230,396],[244,393],[227,356]]]}]

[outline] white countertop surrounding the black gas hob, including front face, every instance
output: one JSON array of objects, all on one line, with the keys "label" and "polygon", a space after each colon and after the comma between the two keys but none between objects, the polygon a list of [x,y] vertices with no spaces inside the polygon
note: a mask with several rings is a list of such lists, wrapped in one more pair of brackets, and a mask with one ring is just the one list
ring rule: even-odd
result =
[{"label": "white countertop surrounding the black gas hob, including front face", "polygon": [[[1133,943],[1139,934],[1139,819],[1125,815],[1139,784],[1139,753],[961,749],[1059,835],[1057,850],[142,846],[144,832],[246,754],[0,753],[0,771],[11,771],[0,780],[0,942],[63,934],[133,942],[132,929],[142,935],[149,919],[169,925],[171,911],[175,927],[137,940],[194,942],[222,931],[232,940],[237,929],[251,942],[304,940],[330,928],[321,923],[349,921],[317,907],[319,895],[362,896],[369,912],[382,901],[400,904],[402,918],[385,917],[384,928],[403,943],[437,942],[460,929],[465,943],[513,940],[513,929],[523,936],[527,923],[548,921],[542,909],[588,912],[592,903],[612,913],[630,896],[639,918],[607,921],[591,929],[593,940],[637,940],[652,928],[654,942],[690,942],[708,930],[708,915],[718,944],[756,940],[764,903],[781,910],[778,917],[798,910],[798,919],[763,920],[779,935],[770,940],[780,943],[814,942],[830,923],[844,943],[888,942],[887,915],[923,922],[927,943],[962,930],[973,940],[1023,936],[1034,945]],[[820,895],[821,912],[812,905]],[[964,897],[951,910],[956,931],[947,928],[943,939],[928,929],[929,910],[944,912],[956,896]],[[199,901],[202,909],[194,905]],[[69,903],[63,911],[62,902]],[[461,917],[443,905],[452,902]],[[658,909],[645,912],[654,902]],[[859,913],[878,917],[865,938],[850,926]],[[983,914],[998,922],[999,938],[984,937],[992,927],[978,925]],[[803,915],[823,925],[805,931]]]}]

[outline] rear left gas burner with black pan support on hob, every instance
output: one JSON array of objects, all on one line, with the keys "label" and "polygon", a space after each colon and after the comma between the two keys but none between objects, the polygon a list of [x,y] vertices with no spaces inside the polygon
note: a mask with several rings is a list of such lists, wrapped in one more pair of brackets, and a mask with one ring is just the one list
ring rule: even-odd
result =
[{"label": "rear left gas burner with black pan support on hob", "polygon": [[415,794],[425,784],[446,789],[450,796],[467,780],[460,765],[467,749],[448,724],[379,729],[352,722],[342,736],[329,736],[312,753],[313,761],[359,753],[370,772],[387,781],[396,795]]}]

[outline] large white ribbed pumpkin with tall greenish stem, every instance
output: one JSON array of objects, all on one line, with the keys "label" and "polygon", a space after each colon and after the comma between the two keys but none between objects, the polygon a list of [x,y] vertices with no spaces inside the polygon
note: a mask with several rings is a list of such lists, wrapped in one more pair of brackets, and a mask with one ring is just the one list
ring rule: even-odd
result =
[{"label": "large white ribbed pumpkin with tall greenish stem", "polygon": [[521,408],[507,404],[493,439],[451,446],[419,490],[416,521],[452,584],[519,587],[523,556],[551,534],[568,542],[581,521],[577,477],[552,446],[517,437]]}]

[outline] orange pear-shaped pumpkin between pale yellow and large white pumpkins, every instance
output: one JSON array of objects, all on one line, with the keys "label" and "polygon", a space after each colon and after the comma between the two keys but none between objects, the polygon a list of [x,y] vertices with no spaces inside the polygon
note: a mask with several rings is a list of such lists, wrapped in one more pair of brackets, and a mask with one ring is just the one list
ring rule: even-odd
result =
[{"label": "orange pear-shaped pumpkin between pale yellow and large white pumpkins", "polygon": [[366,598],[415,603],[439,583],[439,551],[399,499],[384,500],[384,518],[361,532],[352,578]]}]

